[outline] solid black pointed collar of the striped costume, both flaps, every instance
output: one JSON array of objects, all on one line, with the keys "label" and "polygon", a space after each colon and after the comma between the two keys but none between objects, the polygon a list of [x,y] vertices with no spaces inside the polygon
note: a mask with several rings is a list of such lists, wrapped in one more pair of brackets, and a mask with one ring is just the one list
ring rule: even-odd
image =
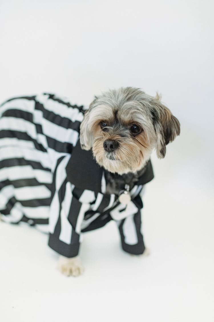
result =
[{"label": "solid black pointed collar of the striped costume, both flaps", "polygon": [[[73,148],[72,156],[66,166],[68,181],[82,190],[101,192],[103,168],[93,158],[92,151],[82,150],[80,140]],[[150,160],[136,185],[144,185],[154,178]]]}]

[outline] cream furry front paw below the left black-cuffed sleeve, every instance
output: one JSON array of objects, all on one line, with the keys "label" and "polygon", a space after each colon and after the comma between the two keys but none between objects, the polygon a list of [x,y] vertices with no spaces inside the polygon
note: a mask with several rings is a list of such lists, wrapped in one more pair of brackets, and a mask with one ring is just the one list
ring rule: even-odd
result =
[{"label": "cream furry front paw below the left black-cuffed sleeve", "polygon": [[84,271],[79,256],[72,258],[60,256],[57,269],[66,276],[79,276]]}]

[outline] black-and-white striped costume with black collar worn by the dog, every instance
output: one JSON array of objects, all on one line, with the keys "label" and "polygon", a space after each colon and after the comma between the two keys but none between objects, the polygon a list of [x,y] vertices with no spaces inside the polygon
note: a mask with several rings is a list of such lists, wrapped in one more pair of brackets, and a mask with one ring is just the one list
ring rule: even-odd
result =
[{"label": "black-and-white striped costume with black collar worn by the dog", "polygon": [[85,108],[53,94],[10,99],[0,106],[0,213],[5,222],[26,222],[49,233],[48,245],[74,257],[81,233],[115,220],[124,251],[143,253],[143,185],[150,161],[130,191],[127,206],[106,192],[106,171],[82,150]]}]

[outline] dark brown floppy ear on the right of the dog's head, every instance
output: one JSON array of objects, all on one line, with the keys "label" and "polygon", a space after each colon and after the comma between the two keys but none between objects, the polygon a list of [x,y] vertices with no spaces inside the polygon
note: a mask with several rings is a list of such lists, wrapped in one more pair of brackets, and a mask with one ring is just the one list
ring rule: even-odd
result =
[{"label": "dark brown floppy ear on the right of the dog's head", "polygon": [[151,114],[157,135],[156,152],[158,158],[161,159],[166,155],[166,145],[180,134],[180,123],[171,111],[160,102],[160,99],[161,97],[157,94],[153,101]]}]

